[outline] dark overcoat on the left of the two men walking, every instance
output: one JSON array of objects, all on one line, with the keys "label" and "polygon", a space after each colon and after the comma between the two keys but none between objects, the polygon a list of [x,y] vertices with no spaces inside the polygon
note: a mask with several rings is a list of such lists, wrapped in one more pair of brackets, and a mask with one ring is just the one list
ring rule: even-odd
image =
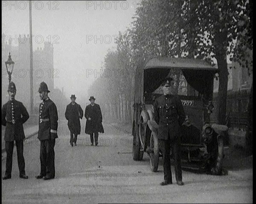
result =
[{"label": "dark overcoat on the left of the two men walking", "polygon": [[84,116],[84,111],[81,106],[75,102],[74,105],[72,103],[67,105],[65,111],[65,118],[67,119],[67,126],[70,129],[70,132],[75,133],[76,135],[80,135],[81,132],[81,124],[80,118],[82,119]]}]

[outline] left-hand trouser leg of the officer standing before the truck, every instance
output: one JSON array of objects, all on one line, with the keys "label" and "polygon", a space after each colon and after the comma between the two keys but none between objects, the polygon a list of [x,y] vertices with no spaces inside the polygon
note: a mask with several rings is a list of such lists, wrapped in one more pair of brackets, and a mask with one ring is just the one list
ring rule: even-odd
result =
[{"label": "left-hand trouser leg of the officer standing before the truck", "polygon": [[169,140],[159,140],[160,149],[163,154],[163,173],[164,180],[167,182],[172,182],[172,171],[171,171],[171,161],[170,161],[170,141]]}]

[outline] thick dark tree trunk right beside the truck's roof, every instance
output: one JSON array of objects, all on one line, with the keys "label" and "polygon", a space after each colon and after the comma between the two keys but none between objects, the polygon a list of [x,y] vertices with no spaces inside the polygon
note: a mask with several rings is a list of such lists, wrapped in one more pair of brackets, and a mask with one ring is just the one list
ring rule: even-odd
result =
[{"label": "thick dark tree trunk right beside the truck's roof", "polygon": [[217,97],[217,123],[226,124],[226,106],[227,106],[227,55],[222,54],[216,57],[219,69],[219,87]]}]

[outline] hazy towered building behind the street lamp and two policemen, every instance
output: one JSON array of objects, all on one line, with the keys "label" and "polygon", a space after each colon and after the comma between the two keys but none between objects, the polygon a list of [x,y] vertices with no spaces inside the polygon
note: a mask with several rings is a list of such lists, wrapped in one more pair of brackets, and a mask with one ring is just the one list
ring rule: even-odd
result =
[{"label": "hazy towered building behind the street lamp and two policemen", "polygon": [[[14,42],[14,41],[11,41]],[[17,44],[16,44],[17,43]],[[12,60],[15,62],[12,72],[12,81],[16,84],[16,99],[21,101],[30,112],[30,54],[29,54],[29,37],[19,36],[15,45],[2,43],[2,106],[9,99],[7,93],[8,74],[5,62],[8,59],[9,52]],[[34,110],[38,111],[41,100],[38,95],[39,84],[44,81],[48,89],[54,89],[54,64],[53,64],[53,45],[44,42],[44,49],[33,51],[33,87],[34,87]],[[37,107],[38,106],[38,107]],[[35,112],[35,113],[36,113]]]}]

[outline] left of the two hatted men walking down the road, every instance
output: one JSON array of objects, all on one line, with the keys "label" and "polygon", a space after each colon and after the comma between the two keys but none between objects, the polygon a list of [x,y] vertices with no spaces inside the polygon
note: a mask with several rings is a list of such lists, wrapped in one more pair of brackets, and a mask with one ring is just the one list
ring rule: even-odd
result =
[{"label": "left of the two hatted men walking down the road", "polygon": [[70,130],[70,144],[73,147],[73,143],[75,146],[77,145],[77,135],[80,135],[81,132],[80,119],[83,118],[84,112],[81,106],[75,102],[75,95],[71,95],[70,99],[71,103],[67,105],[65,117],[68,121],[67,126]]}]

